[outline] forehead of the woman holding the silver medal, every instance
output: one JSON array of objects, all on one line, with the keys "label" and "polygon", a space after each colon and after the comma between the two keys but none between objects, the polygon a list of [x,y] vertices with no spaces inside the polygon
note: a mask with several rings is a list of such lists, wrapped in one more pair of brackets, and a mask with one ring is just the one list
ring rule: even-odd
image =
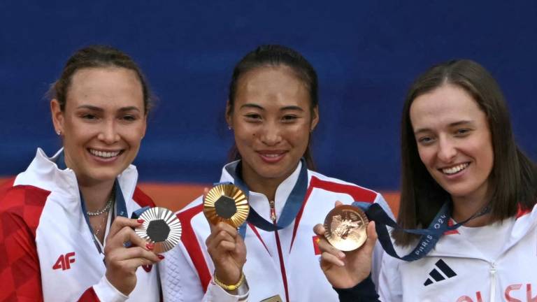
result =
[{"label": "forehead of the woman holding the silver medal", "polygon": [[143,90],[134,71],[117,67],[80,69],[71,78],[66,103],[143,106]]}]

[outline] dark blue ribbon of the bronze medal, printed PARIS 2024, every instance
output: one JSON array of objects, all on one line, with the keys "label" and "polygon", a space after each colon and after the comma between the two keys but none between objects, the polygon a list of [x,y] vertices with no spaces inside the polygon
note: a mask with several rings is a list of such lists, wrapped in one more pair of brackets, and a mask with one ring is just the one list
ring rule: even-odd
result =
[{"label": "dark blue ribbon of the bronze medal, printed PARIS 2024", "polygon": [[[431,224],[429,224],[427,229],[402,229],[396,222],[394,222],[394,220],[392,220],[391,217],[385,213],[378,203],[371,204],[355,201],[352,203],[352,206],[357,206],[364,210],[368,219],[375,222],[375,231],[377,231],[378,240],[380,241],[382,248],[390,256],[404,261],[415,261],[417,259],[422,259],[434,248],[443,233],[458,229],[466,222],[489,213],[489,208],[485,207],[480,212],[475,213],[467,220],[464,220],[464,222],[459,222],[458,224],[454,224],[450,227],[447,223],[450,220],[451,206],[450,202],[446,202],[438,211],[438,214],[436,214],[436,217],[434,217],[434,220],[431,221]],[[420,241],[417,243],[412,252],[400,257],[395,251],[394,244],[389,236],[387,226],[404,231],[406,233],[420,235]]]}]

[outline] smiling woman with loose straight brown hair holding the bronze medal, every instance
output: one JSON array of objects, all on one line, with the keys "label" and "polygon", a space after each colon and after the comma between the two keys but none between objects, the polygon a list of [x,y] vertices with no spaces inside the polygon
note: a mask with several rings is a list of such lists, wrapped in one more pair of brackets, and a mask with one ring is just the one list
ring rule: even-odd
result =
[{"label": "smiling woman with loose straight brown hair holding the bronze medal", "polygon": [[[401,147],[405,230],[392,233],[395,248],[385,227],[395,224],[366,209],[393,256],[382,261],[380,300],[534,301],[537,167],[515,144],[492,75],[456,60],[417,78],[403,107]],[[378,301],[368,271],[357,269],[368,267],[369,250],[351,252],[355,261],[342,265],[327,240],[320,248],[341,301]]]}]

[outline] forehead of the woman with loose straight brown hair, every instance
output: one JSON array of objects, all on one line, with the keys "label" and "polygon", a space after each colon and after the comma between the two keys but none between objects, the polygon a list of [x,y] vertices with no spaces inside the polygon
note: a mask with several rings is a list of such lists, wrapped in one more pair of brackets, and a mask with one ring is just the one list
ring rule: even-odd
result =
[{"label": "forehead of the woman with loose straight brown hair", "polygon": [[436,128],[460,121],[485,122],[486,115],[466,90],[446,84],[413,101],[410,121],[415,129]]}]

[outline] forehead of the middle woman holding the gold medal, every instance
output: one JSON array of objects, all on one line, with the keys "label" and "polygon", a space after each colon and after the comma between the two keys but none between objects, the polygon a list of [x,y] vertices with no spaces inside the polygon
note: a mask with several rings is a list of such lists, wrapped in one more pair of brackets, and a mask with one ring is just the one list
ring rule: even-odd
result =
[{"label": "forehead of the middle woman holding the gold medal", "polygon": [[239,78],[236,102],[308,106],[310,95],[306,85],[290,67],[262,66]]}]

